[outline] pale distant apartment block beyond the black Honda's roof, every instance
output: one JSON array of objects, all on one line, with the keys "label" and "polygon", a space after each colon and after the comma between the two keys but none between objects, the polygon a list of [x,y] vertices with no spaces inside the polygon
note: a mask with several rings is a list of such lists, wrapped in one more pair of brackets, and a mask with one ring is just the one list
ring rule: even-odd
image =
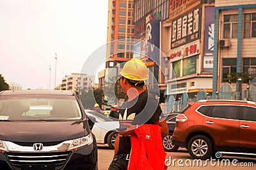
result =
[{"label": "pale distant apartment block beyond the black Honda's roof", "polygon": [[80,73],[65,75],[62,79],[61,90],[81,91],[93,89],[93,76]]}]

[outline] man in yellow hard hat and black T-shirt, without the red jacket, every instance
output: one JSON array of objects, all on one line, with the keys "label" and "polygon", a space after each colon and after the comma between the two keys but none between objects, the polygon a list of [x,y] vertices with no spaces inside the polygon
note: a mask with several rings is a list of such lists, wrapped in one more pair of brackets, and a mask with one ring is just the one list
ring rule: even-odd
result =
[{"label": "man in yellow hard hat and black T-shirt, without the red jacket", "polygon": [[[136,135],[134,127],[143,124],[159,125],[160,137],[168,134],[168,126],[163,112],[153,95],[144,90],[148,79],[147,66],[140,59],[131,59],[125,63],[121,72],[120,86],[128,100],[119,108],[119,120],[132,120],[125,124],[126,130],[119,131],[115,142],[115,156],[109,166],[112,169],[127,169],[131,153],[131,135]],[[160,120],[161,119],[161,120]],[[120,121],[121,122],[121,121]],[[159,143],[159,145],[163,143]]]}]

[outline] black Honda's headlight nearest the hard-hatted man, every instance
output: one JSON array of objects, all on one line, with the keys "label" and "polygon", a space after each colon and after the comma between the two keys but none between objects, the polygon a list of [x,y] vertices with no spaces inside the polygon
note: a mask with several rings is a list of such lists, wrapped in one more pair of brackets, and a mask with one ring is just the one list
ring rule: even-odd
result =
[{"label": "black Honda's headlight nearest the hard-hatted man", "polygon": [[71,150],[71,151],[79,150],[80,148],[83,148],[85,146],[88,146],[89,144],[92,144],[92,142],[93,142],[92,134],[86,135],[81,138],[73,139],[70,142],[68,150]]}]

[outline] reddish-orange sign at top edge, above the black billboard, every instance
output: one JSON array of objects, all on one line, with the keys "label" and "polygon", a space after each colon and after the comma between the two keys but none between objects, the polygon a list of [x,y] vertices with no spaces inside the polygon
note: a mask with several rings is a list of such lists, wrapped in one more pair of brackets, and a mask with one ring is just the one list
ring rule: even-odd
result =
[{"label": "reddish-orange sign at top edge, above the black billboard", "polygon": [[200,0],[170,0],[170,19],[175,19],[200,4]]}]

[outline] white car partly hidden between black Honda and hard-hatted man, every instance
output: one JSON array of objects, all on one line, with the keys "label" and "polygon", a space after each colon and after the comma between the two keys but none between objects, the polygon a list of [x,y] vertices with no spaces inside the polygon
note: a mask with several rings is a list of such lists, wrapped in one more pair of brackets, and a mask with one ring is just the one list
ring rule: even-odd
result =
[{"label": "white car partly hidden between black Honda and hard-hatted man", "polygon": [[84,111],[88,118],[95,123],[92,132],[96,137],[97,144],[108,144],[109,148],[114,149],[117,137],[116,128],[119,128],[119,121],[113,121],[100,112]]}]

